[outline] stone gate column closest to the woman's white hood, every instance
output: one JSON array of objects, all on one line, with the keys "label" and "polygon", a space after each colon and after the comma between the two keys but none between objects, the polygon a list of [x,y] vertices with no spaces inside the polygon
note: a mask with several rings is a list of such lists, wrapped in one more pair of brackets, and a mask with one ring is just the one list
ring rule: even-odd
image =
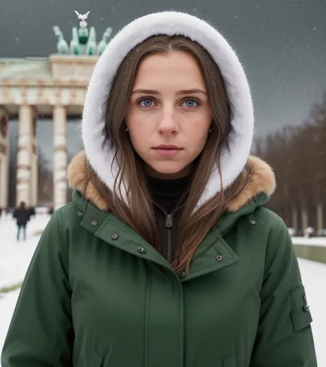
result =
[{"label": "stone gate column closest to the woman's white hood", "polygon": [[67,203],[67,110],[56,105],[53,109],[53,193],[54,209]]}]

